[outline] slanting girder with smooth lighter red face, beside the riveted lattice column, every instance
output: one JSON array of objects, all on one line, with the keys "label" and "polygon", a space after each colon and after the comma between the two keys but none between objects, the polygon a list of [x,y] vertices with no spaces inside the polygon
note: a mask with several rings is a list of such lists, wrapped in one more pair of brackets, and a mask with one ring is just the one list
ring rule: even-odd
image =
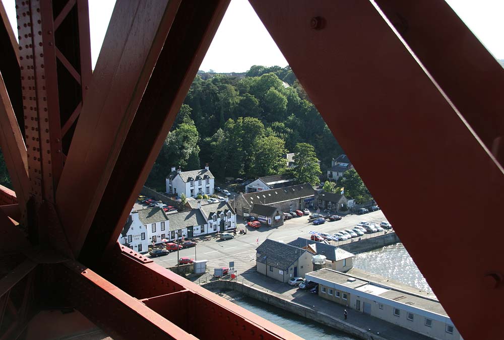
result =
[{"label": "slanting girder with smooth lighter red face, beside the riveted lattice column", "polygon": [[76,255],[178,6],[179,1],[167,0],[116,3],[56,194]]}]

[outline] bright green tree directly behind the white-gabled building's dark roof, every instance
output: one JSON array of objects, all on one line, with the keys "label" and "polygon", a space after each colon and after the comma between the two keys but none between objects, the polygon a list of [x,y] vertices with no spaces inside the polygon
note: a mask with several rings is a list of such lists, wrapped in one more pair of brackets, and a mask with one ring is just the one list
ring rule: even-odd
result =
[{"label": "bright green tree directly behind the white-gabled building's dark roof", "polygon": [[285,168],[285,142],[274,136],[264,137],[257,141],[256,157],[251,174],[255,177],[278,174]]}]

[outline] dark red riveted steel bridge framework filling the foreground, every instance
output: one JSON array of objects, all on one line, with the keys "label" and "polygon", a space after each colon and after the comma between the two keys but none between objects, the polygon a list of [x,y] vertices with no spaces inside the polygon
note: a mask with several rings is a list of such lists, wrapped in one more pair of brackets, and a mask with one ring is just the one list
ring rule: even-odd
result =
[{"label": "dark red riveted steel bridge framework filling the foreground", "polygon": [[[460,232],[499,220],[504,72],[444,2],[376,3],[251,1],[464,338],[504,337],[502,231],[478,256]],[[19,44],[0,4],[0,339],[49,307],[118,339],[296,338],[116,242],[228,4],[118,1],[94,74],[85,0],[16,1]]]}]

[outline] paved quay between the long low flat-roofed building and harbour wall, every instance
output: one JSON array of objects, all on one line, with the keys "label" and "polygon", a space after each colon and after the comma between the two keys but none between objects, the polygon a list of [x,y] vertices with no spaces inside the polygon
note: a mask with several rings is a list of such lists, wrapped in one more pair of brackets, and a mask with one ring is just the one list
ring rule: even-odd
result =
[{"label": "paved quay between the long low flat-roofed building and harbour wall", "polygon": [[[344,320],[343,310],[347,309],[348,318],[346,322],[361,329],[367,330],[369,333],[380,335],[390,340],[431,339],[430,337],[394,325],[379,318],[365,315],[361,312],[357,312],[353,309],[346,308],[345,306],[325,300],[319,297],[318,295],[312,294],[308,291],[303,291],[298,289],[297,287],[294,288],[292,286],[289,286],[288,284],[284,284],[276,280],[270,279],[262,274],[257,273],[257,271],[254,269],[255,268],[247,270],[245,273],[240,275],[237,279],[237,282],[249,287],[264,290],[269,294],[309,307],[313,310],[331,315],[332,317],[341,320]],[[198,278],[195,279],[196,280],[193,279],[193,281],[198,283]],[[215,279],[212,279],[208,276],[204,276],[200,278],[200,283],[203,284],[204,281],[208,282],[213,280]]]}]

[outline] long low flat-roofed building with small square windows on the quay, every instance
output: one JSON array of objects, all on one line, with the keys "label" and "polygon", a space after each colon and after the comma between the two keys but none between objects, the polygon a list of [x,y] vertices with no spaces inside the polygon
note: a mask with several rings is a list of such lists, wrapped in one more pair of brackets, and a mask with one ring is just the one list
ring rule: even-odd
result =
[{"label": "long low flat-roofed building with small square windows on the quay", "polygon": [[462,339],[439,301],[323,268],[305,275],[319,296],[435,339]]}]

